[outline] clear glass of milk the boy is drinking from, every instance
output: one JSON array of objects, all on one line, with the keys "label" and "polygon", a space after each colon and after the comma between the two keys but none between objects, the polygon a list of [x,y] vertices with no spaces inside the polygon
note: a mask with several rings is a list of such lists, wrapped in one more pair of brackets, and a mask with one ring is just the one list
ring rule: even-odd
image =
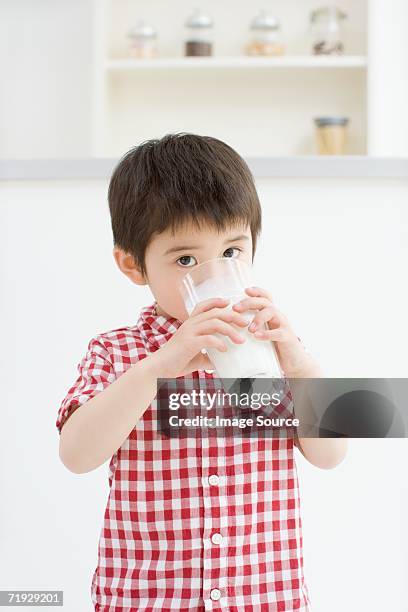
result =
[{"label": "clear glass of milk the boy is drinking from", "polygon": [[[179,290],[188,314],[203,300],[228,298],[225,308],[250,297],[245,288],[253,286],[252,270],[248,264],[238,259],[218,257],[194,266],[182,279]],[[256,315],[256,310],[240,312],[248,323]],[[216,348],[206,348],[209,359],[220,378],[282,378],[276,350],[272,341],[255,338],[247,327],[235,326],[246,341],[235,344],[228,336],[217,333],[228,350],[221,352]],[[268,329],[267,324],[264,328]]]}]

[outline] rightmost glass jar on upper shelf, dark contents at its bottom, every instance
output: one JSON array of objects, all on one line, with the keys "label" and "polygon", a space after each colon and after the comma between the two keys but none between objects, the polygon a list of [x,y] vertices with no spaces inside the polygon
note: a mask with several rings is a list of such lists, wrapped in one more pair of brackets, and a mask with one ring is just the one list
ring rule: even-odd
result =
[{"label": "rightmost glass jar on upper shelf, dark contents at its bottom", "polygon": [[335,6],[322,7],[311,13],[312,53],[314,55],[341,55],[344,53],[344,21],[346,18],[346,13]]}]

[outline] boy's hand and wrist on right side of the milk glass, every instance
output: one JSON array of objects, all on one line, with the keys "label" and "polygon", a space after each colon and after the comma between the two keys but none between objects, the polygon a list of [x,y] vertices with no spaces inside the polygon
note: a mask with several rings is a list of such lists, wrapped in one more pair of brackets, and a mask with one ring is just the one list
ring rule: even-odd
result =
[{"label": "boy's hand and wrist on right side of the milk glass", "polygon": [[[249,332],[259,340],[273,340],[279,362],[287,377],[308,377],[315,367],[312,357],[306,353],[289,321],[272,303],[272,298],[265,289],[247,287],[245,292],[250,296],[234,304],[236,312],[258,310],[249,324]],[[264,323],[269,329],[264,328]]]}]

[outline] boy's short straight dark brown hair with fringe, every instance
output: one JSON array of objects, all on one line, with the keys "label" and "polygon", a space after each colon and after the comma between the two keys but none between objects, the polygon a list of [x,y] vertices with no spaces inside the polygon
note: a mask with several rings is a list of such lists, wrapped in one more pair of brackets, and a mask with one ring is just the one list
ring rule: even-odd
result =
[{"label": "boy's short straight dark brown hair with fringe", "polygon": [[261,206],[254,180],[242,157],[217,138],[167,134],[132,148],[113,172],[108,200],[114,245],[142,274],[152,237],[188,222],[218,231],[248,224],[255,255]]}]

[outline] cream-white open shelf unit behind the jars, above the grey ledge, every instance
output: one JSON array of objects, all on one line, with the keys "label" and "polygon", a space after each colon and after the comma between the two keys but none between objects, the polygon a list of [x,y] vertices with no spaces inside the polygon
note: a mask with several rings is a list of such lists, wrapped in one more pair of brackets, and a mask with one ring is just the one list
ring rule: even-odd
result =
[{"label": "cream-white open shelf unit behind the jars, above the grey ledge", "polygon": [[[396,4],[404,23],[407,8],[402,0]],[[119,157],[138,142],[180,131],[221,138],[246,157],[313,155],[313,118],[330,114],[350,118],[348,154],[399,154],[392,146],[387,149],[391,141],[384,125],[384,108],[395,106],[398,88],[400,116],[408,104],[408,86],[394,76],[391,64],[394,53],[395,68],[399,39],[385,12],[395,20],[395,4],[386,8],[383,0],[341,0],[350,22],[347,54],[327,57],[310,55],[306,43],[307,19],[316,1],[277,0],[273,10],[287,35],[287,53],[274,58],[242,55],[257,7],[245,0],[202,0],[201,6],[219,24],[216,53],[186,58],[182,24],[193,8],[190,0],[179,0],[171,10],[165,0],[94,0],[95,156]],[[126,32],[139,17],[159,31],[160,56],[152,60],[126,57]],[[223,30],[224,23],[229,27]],[[408,63],[401,48],[398,57]],[[384,90],[384,81],[395,93]],[[400,141],[406,149],[408,139],[401,136]]]}]

